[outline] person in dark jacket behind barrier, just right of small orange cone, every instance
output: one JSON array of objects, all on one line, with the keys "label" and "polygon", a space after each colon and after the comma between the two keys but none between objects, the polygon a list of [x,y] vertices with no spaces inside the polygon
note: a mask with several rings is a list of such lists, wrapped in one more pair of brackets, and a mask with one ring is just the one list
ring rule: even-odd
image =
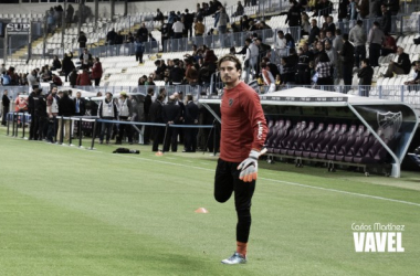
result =
[{"label": "person in dark jacket behind barrier, just right of small orange cone", "polygon": [[[161,110],[161,116],[164,123],[168,125],[179,124],[179,118],[181,116],[181,107],[176,105],[176,98],[174,95],[169,97],[168,104],[166,104]],[[175,127],[167,127],[166,140],[164,141],[164,151],[169,151],[169,145],[172,152],[176,152],[178,149],[178,129]]]}]

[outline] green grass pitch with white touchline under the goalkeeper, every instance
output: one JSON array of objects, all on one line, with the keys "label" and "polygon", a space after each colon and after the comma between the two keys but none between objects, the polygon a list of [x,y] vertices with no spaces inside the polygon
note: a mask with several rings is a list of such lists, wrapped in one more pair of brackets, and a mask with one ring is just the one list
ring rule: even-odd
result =
[{"label": "green grass pitch with white touchline under the goalkeeper", "polygon": [[[249,263],[227,266],[237,217],[232,199],[213,199],[217,158],[115,148],[0,129],[0,275],[419,275],[419,172],[260,161]],[[406,225],[403,253],[355,252],[351,224],[377,222]]]}]

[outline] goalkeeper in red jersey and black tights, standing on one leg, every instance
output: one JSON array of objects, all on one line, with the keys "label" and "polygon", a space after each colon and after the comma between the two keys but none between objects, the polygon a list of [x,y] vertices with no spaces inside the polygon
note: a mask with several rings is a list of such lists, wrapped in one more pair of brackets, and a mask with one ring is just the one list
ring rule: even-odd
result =
[{"label": "goalkeeper in red jersey and black tights, standing on one leg", "polygon": [[241,62],[234,55],[225,55],[219,60],[218,66],[224,92],[220,107],[222,124],[214,198],[218,202],[225,202],[234,192],[237,251],[222,261],[234,265],[246,263],[251,200],[267,127],[259,95],[241,81]]}]

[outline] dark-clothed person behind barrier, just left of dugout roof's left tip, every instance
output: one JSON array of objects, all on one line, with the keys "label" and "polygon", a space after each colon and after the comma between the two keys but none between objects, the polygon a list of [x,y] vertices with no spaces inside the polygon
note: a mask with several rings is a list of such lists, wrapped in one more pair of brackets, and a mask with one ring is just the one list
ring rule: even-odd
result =
[{"label": "dark-clothed person behind barrier, just left of dugout roof's left tip", "polygon": [[[183,123],[186,125],[198,125],[199,108],[192,102],[192,95],[187,95],[186,115]],[[185,129],[185,150],[182,152],[196,152],[197,149],[197,128]]]}]

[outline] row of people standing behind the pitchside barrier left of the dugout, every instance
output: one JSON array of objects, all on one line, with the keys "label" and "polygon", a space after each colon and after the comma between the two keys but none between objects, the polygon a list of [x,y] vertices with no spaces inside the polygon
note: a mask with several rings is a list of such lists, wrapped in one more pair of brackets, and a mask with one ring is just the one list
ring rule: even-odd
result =
[{"label": "row of people standing behind the pitchside barrier left of the dugout", "polygon": [[[202,106],[193,102],[192,95],[183,97],[182,92],[176,92],[167,96],[165,88],[160,88],[155,97],[155,88],[149,87],[147,95],[127,95],[120,92],[118,98],[106,92],[97,93],[97,99],[83,98],[81,92],[72,95],[72,91],[59,91],[52,86],[51,91],[43,93],[34,87],[29,96],[18,95],[14,100],[14,112],[31,115],[29,126],[29,140],[44,140],[48,142],[69,142],[71,134],[78,136],[95,136],[99,144],[108,145],[115,139],[115,145],[122,145],[125,140],[129,145],[140,141],[138,131],[143,135],[145,145],[153,145],[153,151],[177,151],[178,140],[183,144],[183,152],[196,150],[213,151],[213,140],[209,139],[210,128],[195,128],[195,125],[212,125],[212,115]],[[155,100],[153,100],[155,99]],[[10,107],[8,91],[3,91],[2,97],[2,125]],[[72,123],[62,117],[88,116],[103,119],[98,123],[96,132],[94,124],[83,121]],[[114,124],[114,120],[118,123]],[[22,124],[21,119],[19,119]],[[164,126],[138,126],[130,123],[151,123],[166,126],[188,125],[187,128]],[[159,144],[162,148],[159,149]],[[217,145],[216,145],[217,146]]]}]

